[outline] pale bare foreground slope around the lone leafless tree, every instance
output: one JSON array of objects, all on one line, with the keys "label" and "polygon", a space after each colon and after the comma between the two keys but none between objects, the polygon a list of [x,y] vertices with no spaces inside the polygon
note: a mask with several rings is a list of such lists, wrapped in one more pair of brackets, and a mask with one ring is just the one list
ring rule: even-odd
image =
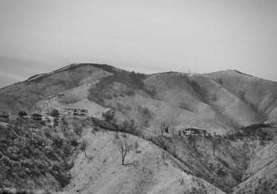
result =
[{"label": "pale bare foreground slope around the lone leafless tree", "polygon": [[[122,134],[118,133],[118,136]],[[116,146],[116,132],[87,131],[87,157],[78,155],[71,170],[73,179],[63,193],[224,193],[202,179],[188,175],[164,150],[149,141],[126,134],[131,143],[137,142],[137,152],[127,155],[121,164]]]}]

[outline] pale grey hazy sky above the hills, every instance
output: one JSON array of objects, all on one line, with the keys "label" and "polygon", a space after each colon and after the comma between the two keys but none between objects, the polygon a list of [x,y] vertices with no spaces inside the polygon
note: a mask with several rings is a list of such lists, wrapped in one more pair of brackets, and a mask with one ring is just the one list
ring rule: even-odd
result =
[{"label": "pale grey hazy sky above the hills", "polygon": [[276,0],[0,0],[0,87],[78,62],[277,81]]}]

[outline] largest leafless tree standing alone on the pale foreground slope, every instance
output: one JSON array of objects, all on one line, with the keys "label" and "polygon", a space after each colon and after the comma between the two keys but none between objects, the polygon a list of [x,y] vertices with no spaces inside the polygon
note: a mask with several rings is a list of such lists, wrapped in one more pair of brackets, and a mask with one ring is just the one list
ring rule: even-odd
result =
[{"label": "largest leafless tree standing alone on the pale foreground slope", "polygon": [[121,155],[122,165],[124,165],[125,157],[132,150],[132,143],[130,143],[128,141],[127,136],[125,134],[118,136],[116,138],[115,143],[116,143],[118,150],[120,152],[120,155]]}]

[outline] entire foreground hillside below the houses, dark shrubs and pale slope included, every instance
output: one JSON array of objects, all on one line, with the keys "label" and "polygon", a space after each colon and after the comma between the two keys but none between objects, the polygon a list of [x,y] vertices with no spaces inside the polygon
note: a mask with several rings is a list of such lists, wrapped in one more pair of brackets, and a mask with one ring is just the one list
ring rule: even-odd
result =
[{"label": "entire foreground hillside below the houses, dark shrubs and pale slope included", "polygon": [[[227,136],[153,136],[98,118],[60,122],[55,128],[1,123],[4,186],[58,193],[276,191],[274,125],[250,125]],[[132,150],[122,165],[118,142],[124,136]]]}]

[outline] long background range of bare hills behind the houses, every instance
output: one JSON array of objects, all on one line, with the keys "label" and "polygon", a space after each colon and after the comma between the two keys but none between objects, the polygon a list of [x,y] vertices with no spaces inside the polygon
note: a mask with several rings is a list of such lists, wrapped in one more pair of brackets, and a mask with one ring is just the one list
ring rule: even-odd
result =
[{"label": "long background range of bare hills behind the houses", "polygon": [[8,112],[65,107],[93,116],[112,107],[118,121],[136,118],[149,132],[165,121],[170,130],[199,127],[222,134],[274,118],[277,84],[235,70],[144,75],[106,64],[71,64],[0,89],[0,109]]}]

